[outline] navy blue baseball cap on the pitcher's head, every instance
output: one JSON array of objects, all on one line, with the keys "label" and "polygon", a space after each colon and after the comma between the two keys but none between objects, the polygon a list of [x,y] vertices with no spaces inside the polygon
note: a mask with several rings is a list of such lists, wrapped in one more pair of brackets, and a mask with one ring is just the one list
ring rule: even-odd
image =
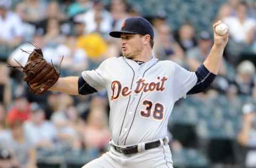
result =
[{"label": "navy blue baseball cap on the pitcher's head", "polygon": [[110,36],[121,38],[121,33],[150,35],[154,39],[154,29],[152,24],[142,17],[127,18],[123,24],[121,31],[111,31]]}]

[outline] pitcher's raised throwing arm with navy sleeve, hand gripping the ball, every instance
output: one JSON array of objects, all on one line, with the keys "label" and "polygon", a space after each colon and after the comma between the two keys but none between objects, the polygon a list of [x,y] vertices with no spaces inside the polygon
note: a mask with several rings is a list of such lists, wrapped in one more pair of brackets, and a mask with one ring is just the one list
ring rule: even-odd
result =
[{"label": "pitcher's raised throwing arm with navy sleeve, hand gripping the ball", "polygon": [[225,35],[218,35],[215,28],[221,21],[213,24],[214,44],[204,63],[196,70],[197,83],[187,94],[197,94],[208,88],[218,74],[224,49],[228,42],[228,32]]}]

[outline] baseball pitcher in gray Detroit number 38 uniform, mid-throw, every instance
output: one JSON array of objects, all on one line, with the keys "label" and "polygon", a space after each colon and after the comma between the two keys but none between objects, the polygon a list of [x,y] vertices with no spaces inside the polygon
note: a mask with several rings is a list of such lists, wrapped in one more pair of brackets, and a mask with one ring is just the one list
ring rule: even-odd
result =
[{"label": "baseball pitcher in gray Detroit number 38 uniform, mid-throw", "polygon": [[110,149],[83,168],[173,167],[167,123],[179,98],[203,91],[217,75],[228,41],[228,32],[222,36],[215,32],[219,24],[213,25],[214,44],[196,72],[154,58],[153,26],[134,17],[124,21],[121,31],[109,33],[121,38],[123,56],[108,58],[81,77],[59,78],[50,90],[86,95],[106,89],[108,93]]}]

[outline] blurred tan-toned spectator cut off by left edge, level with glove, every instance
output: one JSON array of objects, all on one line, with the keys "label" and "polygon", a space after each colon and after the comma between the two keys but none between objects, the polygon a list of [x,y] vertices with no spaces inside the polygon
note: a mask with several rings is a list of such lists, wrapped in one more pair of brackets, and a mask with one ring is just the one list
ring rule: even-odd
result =
[{"label": "blurred tan-toned spectator cut off by left edge, level with glove", "polygon": [[9,69],[5,63],[0,63],[0,103],[5,107],[9,107],[11,103],[11,79],[9,77]]}]

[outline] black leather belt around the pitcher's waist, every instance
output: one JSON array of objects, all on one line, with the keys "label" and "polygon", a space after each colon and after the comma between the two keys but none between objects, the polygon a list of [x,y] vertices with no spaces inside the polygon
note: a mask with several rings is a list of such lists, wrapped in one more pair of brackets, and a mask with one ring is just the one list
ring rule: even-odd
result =
[{"label": "black leather belt around the pitcher's waist", "polygon": [[[145,150],[157,148],[161,145],[160,140],[148,142],[145,144]],[[138,145],[128,146],[128,147],[118,147],[115,145],[112,145],[115,150],[121,154],[130,155],[130,154],[136,154],[138,153]]]}]

